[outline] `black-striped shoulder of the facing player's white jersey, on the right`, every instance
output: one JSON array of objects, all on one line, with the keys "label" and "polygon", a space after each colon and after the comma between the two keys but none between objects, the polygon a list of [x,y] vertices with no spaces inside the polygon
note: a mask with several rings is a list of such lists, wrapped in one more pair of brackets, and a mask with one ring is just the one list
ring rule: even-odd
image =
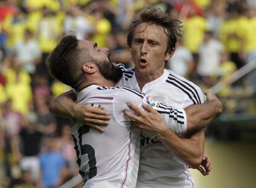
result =
[{"label": "black-striped shoulder of the facing player's white jersey, on the right", "polygon": [[168,78],[166,79],[166,84],[170,84],[174,88],[181,91],[184,95],[187,95],[194,104],[203,103],[203,92],[197,84],[192,81],[187,80],[181,75],[168,70]]}]

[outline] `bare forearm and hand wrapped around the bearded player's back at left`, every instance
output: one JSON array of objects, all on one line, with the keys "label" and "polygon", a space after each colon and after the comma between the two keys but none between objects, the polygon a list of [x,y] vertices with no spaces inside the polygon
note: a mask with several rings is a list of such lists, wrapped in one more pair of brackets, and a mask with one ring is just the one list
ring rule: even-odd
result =
[{"label": "bare forearm and hand wrapped around the bearded player's back at left", "polygon": [[76,96],[73,91],[67,91],[49,104],[50,112],[64,118],[75,118],[81,123],[103,131],[102,125],[108,125],[109,113],[103,107],[92,107],[75,103]]}]

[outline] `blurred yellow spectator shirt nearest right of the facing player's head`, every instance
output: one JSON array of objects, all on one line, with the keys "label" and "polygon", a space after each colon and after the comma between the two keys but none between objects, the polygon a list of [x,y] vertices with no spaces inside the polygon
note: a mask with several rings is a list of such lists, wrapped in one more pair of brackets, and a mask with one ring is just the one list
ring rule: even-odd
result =
[{"label": "blurred yellow spectator shirt nearest right of the facing player's head", "polygon": [[198,15],[184,21],[184,46],[192,53],[197,53],[207,30],[205,18]]}]

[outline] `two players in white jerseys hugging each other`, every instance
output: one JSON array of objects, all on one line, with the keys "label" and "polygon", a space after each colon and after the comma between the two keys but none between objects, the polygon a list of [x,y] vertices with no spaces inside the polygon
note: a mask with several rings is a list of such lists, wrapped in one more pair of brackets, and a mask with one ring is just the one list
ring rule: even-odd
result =
[{"label": "two players in white jerseys hugging each other", "polygon": [[187,188],[189,167],[211,170],[203,128],[222,105],[211,93],[203,104],[198,86],[165,69],[181,36],[179,20],[147,7],[127,35],[135,68],[114,65],[107,48],[72,35],[49,55],[51,75],[74,89],[49,108],[72,118],[84,188]]}]

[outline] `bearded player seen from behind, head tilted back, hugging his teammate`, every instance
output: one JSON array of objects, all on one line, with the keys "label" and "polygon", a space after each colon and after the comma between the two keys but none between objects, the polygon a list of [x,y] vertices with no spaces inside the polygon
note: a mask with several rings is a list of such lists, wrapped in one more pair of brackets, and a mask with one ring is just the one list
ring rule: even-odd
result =
[{"label": "bearded player seen from behind, head tilted back, hugging his teammate", "polygon": [[[134,89],[115,88],[114,83],[121,78],[121,69],[109,59],[108,49],[96,46],[90,41],[77,40],[66,36],[49,55],[49,72],[77,91],[77,103],[92,106],[103,105],[111,115],[105,133],[85,126],[73,119],[72,137],[75,142],[80,174],[84,187],[135,187],[139,168],[140,131],[130,124],[124,115],[129,110],[128,103],[150,113],[150,104],[164,116],[169,128],[177,134],[186,131],[186,113],[154,102],[150,97]],[[171,120],[171,121],[169,121]],[[156,123],[161,126],[161,118]]]}]

